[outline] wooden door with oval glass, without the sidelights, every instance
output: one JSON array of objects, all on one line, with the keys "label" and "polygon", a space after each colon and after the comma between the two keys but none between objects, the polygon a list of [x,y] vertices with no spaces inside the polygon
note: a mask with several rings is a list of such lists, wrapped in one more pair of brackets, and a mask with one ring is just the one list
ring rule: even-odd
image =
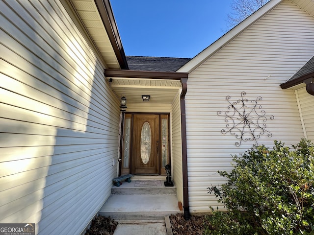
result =
[{"label": "wooden door with oval glass, without the sidelights", "polygon": [[134,114],[132,174],[159,174],[159,115]]}]

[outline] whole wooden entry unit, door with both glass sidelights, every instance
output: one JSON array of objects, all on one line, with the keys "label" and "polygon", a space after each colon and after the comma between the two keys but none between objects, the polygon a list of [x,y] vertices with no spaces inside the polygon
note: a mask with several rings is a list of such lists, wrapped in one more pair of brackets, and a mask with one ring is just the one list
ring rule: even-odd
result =
[{"label": "whole wooden entry unit, door with both glass sidelights", "polygon": [[161,174],[170,162],[169,114],[126,113],[119,175]]}]

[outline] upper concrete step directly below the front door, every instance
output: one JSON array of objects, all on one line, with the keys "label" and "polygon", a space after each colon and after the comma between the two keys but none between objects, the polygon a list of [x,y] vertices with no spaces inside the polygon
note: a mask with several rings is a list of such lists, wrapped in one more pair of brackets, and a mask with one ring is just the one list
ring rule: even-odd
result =
[{"label": "upper concrete step directly below the front door", "polygon": [[161,186],[152,186],[152,187],[140,187],[135,186],[136,180],[131,178],[131,182],[122,182],[122,185],[119,187],[113,186],[111,188],[111,194],[115,195],[125,195],[125,194],[148,194],[148,195],[157,195],[157,194],[177,194],[177,188],[174,187],[165,187],[163,181],[161,181]]}]

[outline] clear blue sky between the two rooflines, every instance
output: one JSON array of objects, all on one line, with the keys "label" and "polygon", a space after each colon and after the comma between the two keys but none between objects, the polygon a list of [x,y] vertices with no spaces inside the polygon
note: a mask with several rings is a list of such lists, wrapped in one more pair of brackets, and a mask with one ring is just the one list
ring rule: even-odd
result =
[{"label": "clear blue sky between the two rooflines", "polygon": [[193,58],[227,30],[232,0],[111,0],[126,55]]}]

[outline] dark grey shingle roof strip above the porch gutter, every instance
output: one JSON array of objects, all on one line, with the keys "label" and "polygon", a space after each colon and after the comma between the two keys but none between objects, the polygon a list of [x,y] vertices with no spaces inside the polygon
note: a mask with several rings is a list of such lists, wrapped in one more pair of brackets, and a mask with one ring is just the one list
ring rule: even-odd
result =
[{"label": "dark grey shingle roof strip above the porch gutter", "polygon": [[129,70],[175,72],[191,59],[173,57],[126,56]]}]

